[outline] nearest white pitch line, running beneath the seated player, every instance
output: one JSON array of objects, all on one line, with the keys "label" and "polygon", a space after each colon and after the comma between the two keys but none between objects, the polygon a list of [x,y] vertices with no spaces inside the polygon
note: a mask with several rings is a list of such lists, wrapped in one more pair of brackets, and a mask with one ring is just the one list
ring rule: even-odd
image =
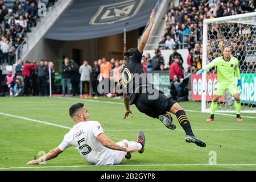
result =
[{"label": "nearest white pitch line, running beneath the seated player", "polygon": [[80,166],[36,166],[36,167],[7,167],[7,168],[0,168],[0,170],[6,169],[38,169],[38,168],[78,168],[78,167],[164,167],[164,166],[256,166],[256,164],[134,164],[134,165],[113,165],[113,166],[96,166],[96,165],[80,165]]}]

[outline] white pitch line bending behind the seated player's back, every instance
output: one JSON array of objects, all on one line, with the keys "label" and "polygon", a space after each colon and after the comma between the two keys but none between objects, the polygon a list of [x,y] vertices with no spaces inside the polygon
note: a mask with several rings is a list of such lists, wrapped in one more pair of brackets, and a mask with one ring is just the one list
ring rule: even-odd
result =
[{"label": "white pitch line bending behind the seated player's back", "polygon": [[[72,129],[72,127],[68,127],[68,126],[63,126],[63,125],[57,125],[55,123],[50,123],[50,122],[46,122],[46,121],[40,121],[38,119],[31,119],[31,118],[26,118],[26,117],[20,117],[18,115],[13,115],[13,114],[6,114],[6,113],[1,113],[0,115],[5,115],[6,117],[13,117],[13,118],[19,118],[19,119],[23,119],[23,120],[27,120],[27,121],[32,121],[32,122],[36,122],[36,123],[42,123],[44,125],[49,125],[49,126],[55,126],[55,127],[61,127],[63,129]],[[105,130],[105,131],[139,131],[139,130],[143,130],[143,131],[183,131],[181,129],[177,129],[177,130],[167,130],[167,129],[127,129],[127,130]],[[256,131],[256,129],[193,129],[193,131]]]}]

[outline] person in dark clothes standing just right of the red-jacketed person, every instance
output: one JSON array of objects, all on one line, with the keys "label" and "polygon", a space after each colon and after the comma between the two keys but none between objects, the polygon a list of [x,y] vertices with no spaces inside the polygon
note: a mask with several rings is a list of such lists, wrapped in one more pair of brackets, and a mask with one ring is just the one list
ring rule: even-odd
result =
[{"label": "person in dark clothes standing just right of the red-jacketed person", "polygon": [[39,65],[36,67],[36,75],[38,77],[38,88],[39,88],[39,96],[47,95],[47,72],[48,68],[44,65],[44,60],[40,60]]}]

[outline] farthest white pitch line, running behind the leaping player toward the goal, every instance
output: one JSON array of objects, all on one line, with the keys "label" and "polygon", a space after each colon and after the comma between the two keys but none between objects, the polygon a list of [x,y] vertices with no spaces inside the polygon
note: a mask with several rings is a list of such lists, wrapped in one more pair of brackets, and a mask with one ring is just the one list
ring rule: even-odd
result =
[{"label": "farthest white pitch line, running behind the leaping player toward the goal", "polygon": [[[65,99],[65,100],[75,100],[75,101],[84,101],[84,102],[98,102],[98,103],[104,103],[104,104],[118,104],[118,105],[123,105],[121,102],[111,102],[111,101],[96,101],[96,100],[84,100],[82,98],[65,98],[65,97],[53,97],[53,98],[60,98],[60,99]],[[134,106],[134,105],[131,105]],[[188,110],[185,109],[185,111],[192,112],[192,113],[202,113],[201,111],[198,110]],[[233,114],[224,114],[224,113],[215,113],[216,115],[227,115],[231,117],[236,117],[236,115]],[[253,118],[256,119],[256,117],[253,116],[246,116],[246,115],[241,115],[242,118]]]}]

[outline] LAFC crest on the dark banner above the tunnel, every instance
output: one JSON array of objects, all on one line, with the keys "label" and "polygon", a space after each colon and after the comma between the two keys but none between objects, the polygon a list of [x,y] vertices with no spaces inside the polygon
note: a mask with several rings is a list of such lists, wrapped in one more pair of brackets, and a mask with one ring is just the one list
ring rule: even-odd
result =
[{"label": "LAFC crest on the dark banner above the tunnel", "polygon": [[113,24],[129,19],[138,14],[143,3],[144,0],[129,0],[110,5],[102,5],[90,20],[90,24]]}]

